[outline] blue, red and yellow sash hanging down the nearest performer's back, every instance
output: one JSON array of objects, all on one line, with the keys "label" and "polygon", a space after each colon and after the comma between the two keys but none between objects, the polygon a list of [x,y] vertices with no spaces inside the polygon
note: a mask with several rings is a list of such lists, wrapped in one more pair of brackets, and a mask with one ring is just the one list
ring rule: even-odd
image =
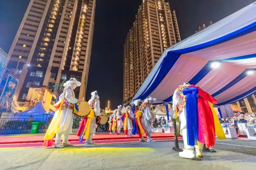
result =
[{"label": "blue, red and yellow sash hanging down the nearest performer's back", "polygon": [[186,95],[187,142],[194,146],[195,139],[207,148],[214,146],[215,135],[226,139],[219,119],[213,109],[218,102],[200,87],[194,85],[183,90]]}]

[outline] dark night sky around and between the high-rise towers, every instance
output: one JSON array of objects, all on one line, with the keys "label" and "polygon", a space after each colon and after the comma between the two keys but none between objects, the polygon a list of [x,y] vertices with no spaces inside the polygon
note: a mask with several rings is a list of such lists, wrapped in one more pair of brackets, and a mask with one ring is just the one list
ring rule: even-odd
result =
[{"label": "dark night sky around and between the high-rise towers", "polygon": [[[8,53],[30,0],[0,0],[0,47]],[[191,36],[255,0],[165,0],[176,10],[180,36]],[[86,100],[97,90],[100,107],[123,100],[123,44],[141,0],[97,0]]]}]

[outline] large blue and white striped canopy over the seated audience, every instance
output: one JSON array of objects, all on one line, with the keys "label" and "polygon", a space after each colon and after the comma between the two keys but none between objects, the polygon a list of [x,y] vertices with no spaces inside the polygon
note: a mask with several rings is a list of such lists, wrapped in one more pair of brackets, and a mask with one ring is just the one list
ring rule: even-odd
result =
[{"label": "large blue and white striped canopy over the seated audience", "polygon": [[[212,68],[213,62],[220,67]],[[210,93],[218,105],[256,92],[256,2],[166,49],[133,100],[171,102],[184,82]]]}]

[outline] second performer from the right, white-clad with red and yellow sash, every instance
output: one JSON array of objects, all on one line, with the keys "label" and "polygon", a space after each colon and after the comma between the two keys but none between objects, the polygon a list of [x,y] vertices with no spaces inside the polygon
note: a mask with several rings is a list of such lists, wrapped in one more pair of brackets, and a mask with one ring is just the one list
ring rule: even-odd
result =
[{"label": "second performer from the right, white-clad with red and yellow sash", "polygon": [[150,105],[155,102],[156,99],[149,97],[144,100],[144,102],[141,104],[140,109],[135,113],[135,121],[137,122],[136,126],[140,142],[145,142],[143,136],[144,134],[147,135],[147,142],[154,142],[154,140],[151,139],[151,126],[149,124],[150,122],[155,122],[155,120],[152,120],[151,114],[150,114]]}]

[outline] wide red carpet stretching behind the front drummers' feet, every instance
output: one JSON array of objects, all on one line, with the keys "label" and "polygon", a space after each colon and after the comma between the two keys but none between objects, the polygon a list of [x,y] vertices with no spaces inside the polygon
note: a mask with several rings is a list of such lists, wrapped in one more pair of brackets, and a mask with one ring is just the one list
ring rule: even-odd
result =
[{"label": "wide red carpet stretching behind the front drummers' feet", "polygon": [[[152,133],[152,138],[171,138],[174,137],[173,133]],[[44,135],[40,136],[1,136],[0,144],[26,144],[26,143],[42,143],[44,141]],[[69,141],[78,141],[79,137],[73,135],[69,136]],[[139,139],[138,135],[134,137],[125,137],[125,134],[96,134],[92,138],[95,141],[101,140],[120,140],[120,139]],[[85,139],[84,139],[85,140]]]}]

